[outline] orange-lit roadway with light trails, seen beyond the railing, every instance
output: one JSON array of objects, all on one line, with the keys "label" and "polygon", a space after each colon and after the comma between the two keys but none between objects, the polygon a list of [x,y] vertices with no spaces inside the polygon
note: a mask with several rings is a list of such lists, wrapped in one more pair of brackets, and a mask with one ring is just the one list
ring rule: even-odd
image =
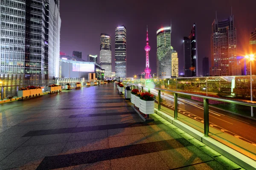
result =
[{"label": "orange-lit roadway with light trails, seen beyond the railing", "polygon": [[[151,89],[151,94],[158,96],[158,91]],[[161,93],[161,98],[166,101],[162,104],[172,108],[174,96]],[[189,99],[178,98],[179,113],[189,116],[201,123],[204,120],[204,105]],[[209,106],[209,126],[228,133],[256,146],[256,120],[232,114]]]}]

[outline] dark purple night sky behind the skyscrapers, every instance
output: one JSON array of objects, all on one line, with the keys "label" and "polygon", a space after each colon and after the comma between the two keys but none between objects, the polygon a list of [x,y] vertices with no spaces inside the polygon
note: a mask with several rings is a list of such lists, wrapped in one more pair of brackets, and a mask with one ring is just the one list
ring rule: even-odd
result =
[{"label": "dark purple night sky behind the skyscrapers", "polygon": [[210,57],[210,35],[215,11],[219,20],[226,20],[231,6],[237,29],[238,56],[248,52],[249,36],[256,28],[256,0],[60,0],[61,52],[98,54],[100,34],[112,40],[112,71],[115,59],[115,28],[127,30],[127,77],[144,72],[146,26],[151,51],[151,74],[156,73],[156,31],[169,26],[172,20],[172,46],[178,52],[179,74],[183,73],[183,37],[189,36],[197,23],[199,75],[202,59]]}]

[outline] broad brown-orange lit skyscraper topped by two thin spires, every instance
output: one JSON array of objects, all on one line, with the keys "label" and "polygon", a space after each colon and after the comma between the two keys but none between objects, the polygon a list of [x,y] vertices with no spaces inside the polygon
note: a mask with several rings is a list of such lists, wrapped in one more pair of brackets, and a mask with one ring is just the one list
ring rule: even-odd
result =
[{"label": "broad brown-orange lit skyscraper topped by two thin spires", "polygon": [[216,17],[212,23],[211,60],[210,75],[241,75],[241,65],[236,59],[236,28],[233,14],[223,21],[218,21]]}]

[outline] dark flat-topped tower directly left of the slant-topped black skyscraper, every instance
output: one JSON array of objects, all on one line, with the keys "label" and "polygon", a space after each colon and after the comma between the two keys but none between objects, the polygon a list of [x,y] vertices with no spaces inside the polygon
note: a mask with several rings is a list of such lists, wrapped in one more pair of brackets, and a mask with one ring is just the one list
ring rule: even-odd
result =
[{"label": "dark flat-topped tower directly left of the slant-topped black skyscraper", "polygon": [[191,77],[191,40],[188,37],[183,38],[183,53],[184,53],[184,77]]}]

